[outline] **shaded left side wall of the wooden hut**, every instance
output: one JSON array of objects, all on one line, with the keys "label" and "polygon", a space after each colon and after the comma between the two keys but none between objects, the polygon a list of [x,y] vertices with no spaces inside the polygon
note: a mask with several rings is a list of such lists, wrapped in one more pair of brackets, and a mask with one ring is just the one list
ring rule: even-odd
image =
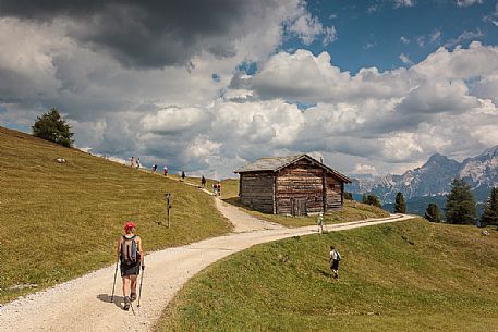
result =
[{"label": "shaded left side wall of the wooden hut", "polygon": [[241,202],[255,210],[274,213],[272,172],[241,174]]}]

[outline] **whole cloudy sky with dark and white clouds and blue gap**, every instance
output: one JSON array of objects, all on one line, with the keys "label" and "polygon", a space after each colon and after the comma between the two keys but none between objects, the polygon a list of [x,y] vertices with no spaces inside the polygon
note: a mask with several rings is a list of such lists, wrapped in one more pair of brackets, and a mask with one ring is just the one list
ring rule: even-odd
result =
[{"label": "whole cloudy sky with dark and white clouds and blue gap", "polygon": [[0,0],[0,125],[216,177],[401,173],[498,145],[496,0]]}]

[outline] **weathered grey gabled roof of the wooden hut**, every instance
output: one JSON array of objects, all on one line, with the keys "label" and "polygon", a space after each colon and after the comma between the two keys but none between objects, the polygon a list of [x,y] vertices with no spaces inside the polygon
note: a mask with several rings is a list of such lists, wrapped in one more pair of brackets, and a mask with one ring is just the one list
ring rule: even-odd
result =
[{"label": "weathered grey gabled roof of the wooden hut", "polygon": [[256,160],[252,163],[246,164],[243,168],[235,170],[234,173],[260,172],[260,171],[277,172],[303,158],[308,159],[312,162],[315,162],[323,169],[326,169],[328,172],[336,175],[342,182],[345,182],[345,183],[352,182],[351,179],[349,179],[348,176],[323,164],[318,160],[309,157],[308,155],[294,155],[294,156],[284,156],[284,157],[264,157],[264,158],[259,158],[258,160]]}]

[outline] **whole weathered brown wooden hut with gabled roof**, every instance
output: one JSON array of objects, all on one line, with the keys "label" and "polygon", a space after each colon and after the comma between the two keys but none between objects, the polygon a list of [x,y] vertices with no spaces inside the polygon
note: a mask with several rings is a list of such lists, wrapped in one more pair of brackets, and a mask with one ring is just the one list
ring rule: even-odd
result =
[{"label": "whole weathered brown wooden hut with gabled roof", "polygon": [[239,170],[241,202],[267,213],[306,216],[341,209],[351,180],[307,155],[266,157]]}]

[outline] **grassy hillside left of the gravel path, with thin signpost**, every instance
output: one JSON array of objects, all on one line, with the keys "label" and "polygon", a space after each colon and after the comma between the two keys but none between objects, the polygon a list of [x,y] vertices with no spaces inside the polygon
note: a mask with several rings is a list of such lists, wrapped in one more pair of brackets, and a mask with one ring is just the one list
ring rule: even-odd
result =
[{"label": "grassy hillside left of the gravel path, with thin signpost", "polygon": [[[0,151],[0,303],[113,262],[129,220],[145,250],[230,230],[211,197],[178,181],[1,127]],[[171,229],[158,224],[166,192]]]}]

